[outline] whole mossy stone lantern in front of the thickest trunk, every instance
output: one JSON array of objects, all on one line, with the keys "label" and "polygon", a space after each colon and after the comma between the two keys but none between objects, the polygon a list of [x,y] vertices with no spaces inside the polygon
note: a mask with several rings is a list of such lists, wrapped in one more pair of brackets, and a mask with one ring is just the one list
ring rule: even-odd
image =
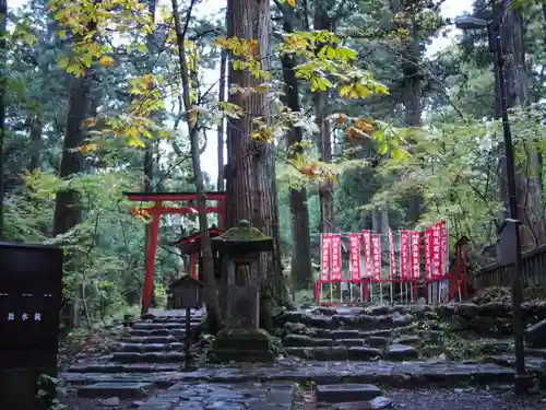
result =
[{"label": "whole mossy stone lantern in front of the thickest trunk", "polygon": [[224,329],[211,350],[212,361],[269,361],[274,358],[270,335],[260,329],[260,254],[273,250],[273,238],[248,221],[212,239],[223,257],[222,280],[226,290]]}]

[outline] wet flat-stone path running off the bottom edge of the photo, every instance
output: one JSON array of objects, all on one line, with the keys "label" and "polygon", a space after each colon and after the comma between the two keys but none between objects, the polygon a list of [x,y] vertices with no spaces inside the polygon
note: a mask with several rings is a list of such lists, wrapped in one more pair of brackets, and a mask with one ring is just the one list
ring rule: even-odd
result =
[{"label": "wet flat-stone path running off the bottom edge of the photo", "polygon": [[139,410],[290,410],[294,383],[178,383]]}]

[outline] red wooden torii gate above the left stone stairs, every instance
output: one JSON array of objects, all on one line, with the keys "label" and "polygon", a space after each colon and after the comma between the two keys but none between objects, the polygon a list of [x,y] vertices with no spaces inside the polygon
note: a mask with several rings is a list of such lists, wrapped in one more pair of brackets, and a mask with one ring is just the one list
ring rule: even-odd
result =
[{"label": "red wooden torii gate above the left stone stairs", "polygon": [[[142,314],[147,313],[150,303],[152,302],[152,292],[154,288],[154,266],[155,254],[157,250],[157,239],[159,236],[159,221],[162,215],[166,214],[198,214],[198,210],[190,203],[181,207],[165,207],[164,201],[178,202],[188,201],[195,202],[198,200],[197,192],[123,192],[123,195],[134,202],[154,202],[150,208],[133,208],[131,213],[143,214],[151,218],[150,242],[147,244],[147,260],[146,276],[144,278],[144,289],[142,291]],[[206,213],[218,214],[218,227],[225,229],[226,223],[226,194],[225,192],[205,192],[207,201],[216,201],[216,207],[206,207]]]}]

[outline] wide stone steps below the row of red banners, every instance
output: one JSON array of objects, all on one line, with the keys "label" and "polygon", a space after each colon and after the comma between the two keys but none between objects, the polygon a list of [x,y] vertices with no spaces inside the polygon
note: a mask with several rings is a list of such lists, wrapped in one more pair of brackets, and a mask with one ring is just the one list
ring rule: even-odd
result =
[{"label": "wide stone steps below the row of red banners", "polygon": [[287,312],[283,345],[288,355],[318,361],[406,361],[441,351],[440,330],[418,330],[414,316],[395,307]]}]

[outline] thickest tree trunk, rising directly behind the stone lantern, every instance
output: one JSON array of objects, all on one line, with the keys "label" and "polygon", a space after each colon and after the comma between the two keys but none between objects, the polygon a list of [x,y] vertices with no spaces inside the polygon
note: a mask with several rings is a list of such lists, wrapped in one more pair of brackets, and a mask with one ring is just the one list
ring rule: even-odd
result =
[{"label": "thickest tree trunk, rising directly behind the stone lantern", "polygon": [[[271,10],[269,0],[229,0],[227,4],[228,37],[256,39],[262,69],[270,67]],[[252,87],[259,81],[249,72],[229,67],[229,87],[239,85]],[[274,305],[288,304],[288,294],[281,270],[281,247],[278,234],[278,207],[275,181],[275,161],[270,143],[251,138],[252,120],[270,115],[269,98],[263,93],[240,93],[229,96],[229,102],[242,108],[240,119],[230,120],[227,127],[228,166],[226,190],[228,196],[228,224],[234,226],[239,220],[248,220],[265,235],[273,237],[272,253],[262,254],[260,274],[265,284],[261,290],[262,327],[273,327],[270,311]]]}]

